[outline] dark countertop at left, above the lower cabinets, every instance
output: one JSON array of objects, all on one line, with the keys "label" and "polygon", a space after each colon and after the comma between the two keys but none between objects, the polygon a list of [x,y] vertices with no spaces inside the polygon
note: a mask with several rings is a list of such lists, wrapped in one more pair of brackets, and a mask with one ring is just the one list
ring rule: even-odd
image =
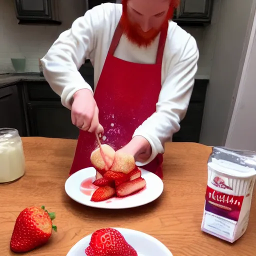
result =
[{"label": "dark countertop at left, above the lower cabinets", "polygon": [[13,73],[13,74],[0,74],[0,86],[12,84],[19,81],[45,81],[44,76],[40,73]]}]

